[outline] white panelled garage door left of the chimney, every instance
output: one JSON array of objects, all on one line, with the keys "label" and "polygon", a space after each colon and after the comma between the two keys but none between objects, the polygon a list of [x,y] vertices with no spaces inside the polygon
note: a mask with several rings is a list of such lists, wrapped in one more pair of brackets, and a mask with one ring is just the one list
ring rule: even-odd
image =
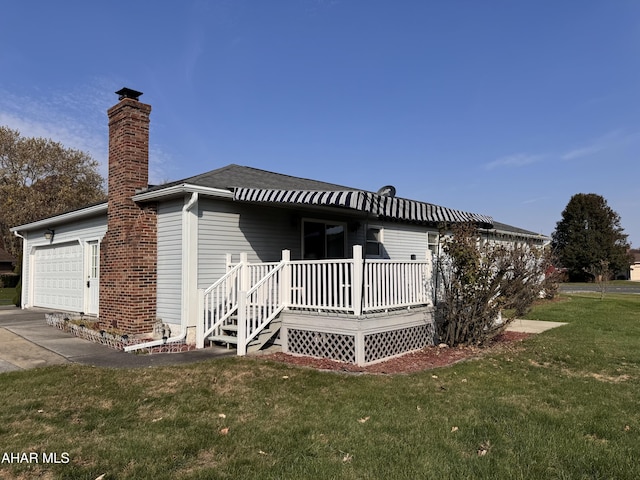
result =
[{"label": "white panelled garage door left of the chimney", "polygon": [[34,280],[36,307],[82,311],[82,247],[78,243],[39,247]]}]

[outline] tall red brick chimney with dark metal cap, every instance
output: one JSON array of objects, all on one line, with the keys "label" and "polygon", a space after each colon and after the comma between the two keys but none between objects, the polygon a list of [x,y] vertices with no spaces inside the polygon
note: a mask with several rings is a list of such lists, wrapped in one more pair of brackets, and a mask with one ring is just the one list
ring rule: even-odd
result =
[{"label": "tall red brick chimney with dark metal cap", "polygon": [[157,205],[131,197],[148,187],[149,114],[141,92],[123,88],[109,117],[107,232],[100,246],[100,323],[151,332],[156,317]]}]

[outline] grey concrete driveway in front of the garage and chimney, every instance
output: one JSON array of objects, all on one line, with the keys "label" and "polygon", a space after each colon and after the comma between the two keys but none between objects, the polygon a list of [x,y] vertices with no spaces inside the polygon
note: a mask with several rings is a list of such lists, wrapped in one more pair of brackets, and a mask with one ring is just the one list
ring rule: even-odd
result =
[{"label": "grey concrete driveway in front of the garage and chimney", "polygon": [[179,365],[234,354],[215,347],[183,353],[125,353],[50,327],[44,313],[0,307],[0,373],[65,363],[111,368]]}]

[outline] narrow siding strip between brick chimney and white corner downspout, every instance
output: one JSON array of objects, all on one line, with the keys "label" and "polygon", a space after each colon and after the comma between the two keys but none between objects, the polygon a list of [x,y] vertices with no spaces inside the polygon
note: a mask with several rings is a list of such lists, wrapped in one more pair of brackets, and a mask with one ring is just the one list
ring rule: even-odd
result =
[{"label": "narrow siding strip between brick chimney and white corner downspout", "polygon": [[180,324],[182,309],[182,207],[183,200],[158,205],[157,317]]}]

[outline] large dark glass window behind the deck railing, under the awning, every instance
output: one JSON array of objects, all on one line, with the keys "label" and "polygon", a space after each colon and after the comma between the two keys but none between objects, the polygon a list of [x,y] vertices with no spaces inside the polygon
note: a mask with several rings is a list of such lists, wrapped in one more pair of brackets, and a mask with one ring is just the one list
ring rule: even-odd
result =
[{"label": "large dark glass window behind the deck railing, under the awning", "polygon": [[302,227],[303,258],[344,258],[345,231],[344,224],[305,220]]}]

